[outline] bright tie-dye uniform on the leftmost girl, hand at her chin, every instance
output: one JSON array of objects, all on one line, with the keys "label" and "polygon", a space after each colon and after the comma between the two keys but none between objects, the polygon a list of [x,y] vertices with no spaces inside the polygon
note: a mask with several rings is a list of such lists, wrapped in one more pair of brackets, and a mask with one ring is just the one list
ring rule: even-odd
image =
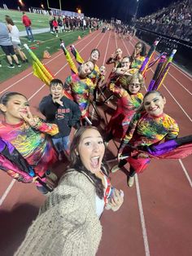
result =
[{"label": "bright tie-dye uniform on the leftmost girl, hand at her chin", "polygon": [[[39,126],[34,129],[26,122],[10,125],[5,121],[0,123],[0,136],[10,142],[20,154],[34,166],[36,174],[42,177],[50,164],[57,160],[57,155],[52,148],[47,135],[56,135],[59,132],[58,126],[40,121]],[[7,171],[14,179],[20,179],[19,174],[14,171]],[[27,181],[25,181],[27,182]]]}]

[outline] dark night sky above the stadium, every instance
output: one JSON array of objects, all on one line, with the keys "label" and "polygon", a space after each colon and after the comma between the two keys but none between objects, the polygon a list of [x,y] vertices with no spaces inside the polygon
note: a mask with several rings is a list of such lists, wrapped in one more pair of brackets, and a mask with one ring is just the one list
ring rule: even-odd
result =
[{"label": "dark night sky above the stadium", "polygon": [[[179,0],[139,0],[138,16],[145,16],[167,7],[172,2]],[[8,8],[16,8],[18,0],[0,0],[7,3]],[[26,7],[40,7],[43,3],[46,8],[46,0],[23,0]],[[50,7],[59,9],[59,0],[48,0]],[[65,11],[76,11],[76,7],[81,7],[85,15],[99,18],[115,17],[120,20],[129,20],[129,17],[135,14],[137,0],[60,0],[62,9]]]}]

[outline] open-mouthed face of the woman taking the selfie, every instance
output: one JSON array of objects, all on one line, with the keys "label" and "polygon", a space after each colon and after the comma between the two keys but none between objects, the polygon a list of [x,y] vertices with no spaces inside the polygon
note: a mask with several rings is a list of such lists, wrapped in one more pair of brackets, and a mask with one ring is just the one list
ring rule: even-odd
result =
[{"label": "open-mouthed face of the woman taking the selfie", "polygon": [[82,164],[93,174],[101,170],[105,146],[103,138],[95,129],[87,129],[81,135],[77,148]]}]

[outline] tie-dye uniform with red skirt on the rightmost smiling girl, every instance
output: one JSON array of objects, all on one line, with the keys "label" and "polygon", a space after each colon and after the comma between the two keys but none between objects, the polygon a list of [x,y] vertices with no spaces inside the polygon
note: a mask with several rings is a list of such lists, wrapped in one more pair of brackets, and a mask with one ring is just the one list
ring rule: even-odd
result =
[{"label": "tie-dye uniform with red skirt on the rightmost smiling girl", "polygon": [[[119,153],[122,153],[127,143],[130,146],[150,146],[158,144],[163,139],[175,139],[179,133],[177,122],[167,114],[160,117],[151,117],[148,113],[136,113],[129,124],[124,139],[120,144]],[[130,166],[138,173],[149,164],[149,158],[140,158],[136,150],[129,148],[131,157],[127,159]]]}]

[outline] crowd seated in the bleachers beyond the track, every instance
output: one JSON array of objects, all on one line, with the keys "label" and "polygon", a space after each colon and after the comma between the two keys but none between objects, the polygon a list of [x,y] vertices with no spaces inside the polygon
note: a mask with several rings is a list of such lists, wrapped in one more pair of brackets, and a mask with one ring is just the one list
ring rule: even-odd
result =
[{"label": "crowd seated in the bleachers beyond the track", "polygon": [[174,2],[151,15],[139,18],[136,26],[192,42],[191,15],[192,1],[184,0]]}]

